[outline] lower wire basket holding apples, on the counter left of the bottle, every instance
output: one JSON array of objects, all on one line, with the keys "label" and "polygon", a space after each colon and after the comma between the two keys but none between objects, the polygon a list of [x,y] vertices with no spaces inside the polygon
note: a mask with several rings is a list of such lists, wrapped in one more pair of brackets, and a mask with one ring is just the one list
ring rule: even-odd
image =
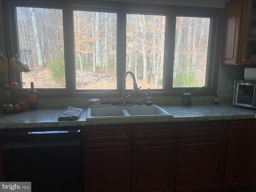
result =
[{"label": "lower wire basket holding apples, on the counter left of the bottle", "polygon": [[4,113],[20,113],[28,108],[29,102],[7,102],[0,104],[0,110]]}]

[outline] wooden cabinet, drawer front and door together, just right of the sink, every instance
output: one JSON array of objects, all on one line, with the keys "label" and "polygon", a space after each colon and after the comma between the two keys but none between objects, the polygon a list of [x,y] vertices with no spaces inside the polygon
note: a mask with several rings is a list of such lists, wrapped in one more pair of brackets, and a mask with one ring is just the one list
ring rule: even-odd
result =
[{"label": "wooden cabinet, drawer front and door together, just right of the sink", "polygon": [[176,192],[223,188],[227,123],[179,124]]}]

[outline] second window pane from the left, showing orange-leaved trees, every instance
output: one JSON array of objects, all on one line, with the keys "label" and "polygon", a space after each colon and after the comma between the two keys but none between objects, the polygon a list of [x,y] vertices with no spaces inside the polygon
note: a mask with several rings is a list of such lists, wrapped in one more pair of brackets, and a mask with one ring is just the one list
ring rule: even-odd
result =
[{"label": "second window pane from the left, showing orange-leaved trees", "polygon": [[116,13],[74,11],[76,89],[116,89]]}]

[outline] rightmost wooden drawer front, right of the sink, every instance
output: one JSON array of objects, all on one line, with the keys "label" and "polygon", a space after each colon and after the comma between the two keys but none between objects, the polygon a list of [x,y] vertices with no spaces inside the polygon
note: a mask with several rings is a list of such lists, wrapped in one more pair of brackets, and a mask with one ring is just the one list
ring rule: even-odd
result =
[{"label": "rightmost wooden drawer front, right of the sink", "polygon": [[201,136],[223,136],[228,131],[228,121],[182,122],[179,124],[179,138]]}]

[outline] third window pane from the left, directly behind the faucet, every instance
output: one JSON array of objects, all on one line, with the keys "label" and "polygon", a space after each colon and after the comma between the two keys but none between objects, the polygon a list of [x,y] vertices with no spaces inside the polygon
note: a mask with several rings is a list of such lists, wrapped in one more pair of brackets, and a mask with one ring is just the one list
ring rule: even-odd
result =
[{"label": "third window pane from the left, directly behind the faucet", "polygon": [[163,88],[165,30],[165,15],[126,14],[126,70],[141,89]]}]

